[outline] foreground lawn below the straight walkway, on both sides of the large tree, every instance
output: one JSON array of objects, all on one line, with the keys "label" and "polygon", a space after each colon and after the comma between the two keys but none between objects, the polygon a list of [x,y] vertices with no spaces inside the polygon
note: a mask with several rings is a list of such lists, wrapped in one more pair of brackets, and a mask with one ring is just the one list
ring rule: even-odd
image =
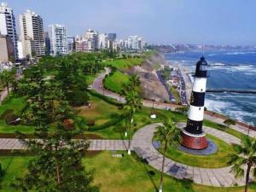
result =
[{"label": "foreground lawn below the straight walkway, on both sides of the large tree", "polygon": [[[157,192],[160,181],[160,172],[154,170],[137,158],[137,155],[127,155],[123,158],[112,157],[111,153],[104,151],[95,156],[86,157],[83,160],[85,170],[93,171],[94,184],[98,185],[101,192]],[[9,183],[15,182],[15,178],[22,177],[26,172],[28,161],[32,157],[1,156],[0,161],[5,171],[1,181],[1,192],[17,192]],[[148,174],[155,173],[154,176]],[[250,186],[253,192],[256,185]],[[243,187],[214,188],[198,185],[165,175],[164,190],[172,192],[241,192]],[[30,191],[29,191],[30,192]]]}]

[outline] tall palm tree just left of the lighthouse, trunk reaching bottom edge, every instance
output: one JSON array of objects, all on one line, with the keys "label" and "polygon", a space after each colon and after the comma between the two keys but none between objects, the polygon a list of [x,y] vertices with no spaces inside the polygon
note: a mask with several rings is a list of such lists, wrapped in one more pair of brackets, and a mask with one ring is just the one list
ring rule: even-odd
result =
[{"label": "tall palm tree just left of the lighthouse, trunk reaching bottom edge", "polygon": [[171,148],[177,148],[177,146],[181,142],[181,131],[176,127],[176,125],[171,121],[171,119],[164,119],[163,125],[158,127],[158,130],[155,132],[155,136],[161,143],[164,143],[164,154],[159,188],[159,192],[162,192],[164,166],[166,160],[166,149],[168,146]]}]

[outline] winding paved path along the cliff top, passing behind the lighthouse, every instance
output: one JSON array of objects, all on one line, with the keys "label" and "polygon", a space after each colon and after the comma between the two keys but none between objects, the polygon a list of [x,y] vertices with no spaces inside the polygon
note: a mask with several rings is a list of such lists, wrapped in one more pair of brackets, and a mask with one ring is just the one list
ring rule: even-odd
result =
[{"label": "winding paved path along the cliff top, passing behind the lighthouse", "polygon": [[[112,91],[105,90],[103,88],[102,80],[105,78],[105,75],[110,73],[110,69],[107,67],[106,71],[101,73],[96,79],[94,80],[93,84],[91,85],[91,88],[93,90],[96,90],[98,93],[101,93],[102,95],[109,96],[113,99],[116,99],[119,102],[125,102],[125,99],[121,96],[119,96],[116,93],[113,93]],[[153,105],[153,102],[148,101],[148,100],[143,100],[143,106],[151,108]],[[180,107],[179,105],[175,104],[170,104],[170,103],[162,103],[162,102],[154,102],[154,108],[159,108],[159,109],[170,109],[174,111],[176,108]],[[216,116],[212,116],[209,114],[204,115],[205,119],[211,120],[212,122],[224,125],[224,119],[218,118]],[[256,137],[256,131],[250,130],[248,131],[247,127],[242,126],[242,125],[230,125],[231,129],[234,129],[236,131],[239,131],[245,135],[249,135],[250,137]]]}]

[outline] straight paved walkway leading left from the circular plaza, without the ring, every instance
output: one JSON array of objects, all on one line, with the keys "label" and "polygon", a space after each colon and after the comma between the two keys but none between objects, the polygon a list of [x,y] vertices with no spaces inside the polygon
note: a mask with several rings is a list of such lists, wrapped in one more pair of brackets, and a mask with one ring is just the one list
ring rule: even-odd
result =
[{"label": "straight paved walkway leading left from the circular plaza, without the ring", "polygon": [[[90,140],[90,148],[88,150],[127,150],[127,140]],[[23,150],[26,149],[26,144],[14,138],[0,138],[0,149],[4,150]]]}]

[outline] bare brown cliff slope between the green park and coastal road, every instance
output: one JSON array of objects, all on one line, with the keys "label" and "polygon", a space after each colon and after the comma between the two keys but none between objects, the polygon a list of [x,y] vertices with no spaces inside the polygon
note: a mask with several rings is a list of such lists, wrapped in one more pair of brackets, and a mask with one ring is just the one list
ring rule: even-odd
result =
[{"label": "bare brown cliff slope between the green park and coastal road", "polygon": [[141,80],[143,98],[156,102],[169,101],[168,92],[156,74],[156,67],[166,65],[163,55],[151,55],[141,66],[131,67],[125,73],[137,73]]}]

